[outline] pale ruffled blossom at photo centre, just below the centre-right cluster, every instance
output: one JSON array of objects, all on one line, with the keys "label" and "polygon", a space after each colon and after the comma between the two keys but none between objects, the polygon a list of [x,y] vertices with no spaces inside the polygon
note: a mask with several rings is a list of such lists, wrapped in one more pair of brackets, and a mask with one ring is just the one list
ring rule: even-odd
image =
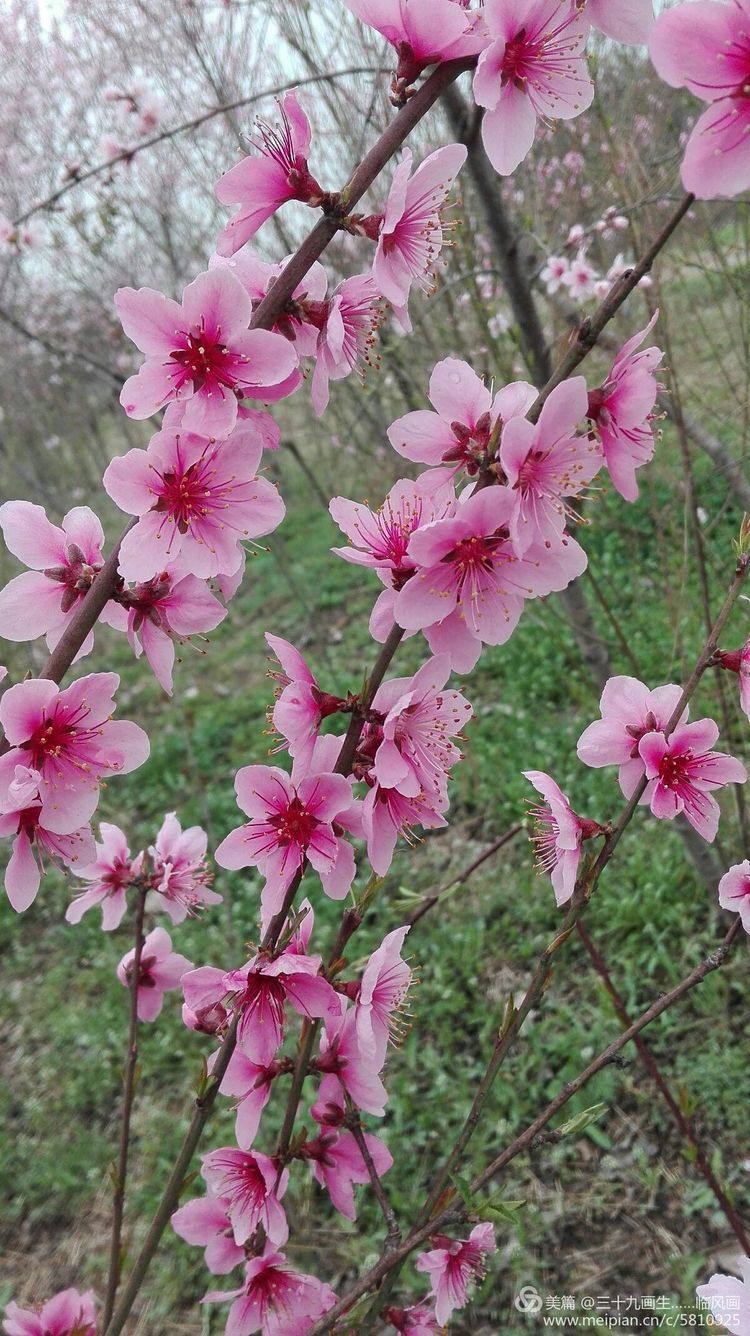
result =
[{"label": "pale ruffled blossom at photo centre, just below the centre-right cluster", "polygon": [[378,725],[373,776],[405,798],[445,794],[447,778],[461,759],[452,741],[472,716],[457,691],[447,691],[448,655],[428,659],[413,677],[393,677],[376,692],[372,709],[384,715]]}]

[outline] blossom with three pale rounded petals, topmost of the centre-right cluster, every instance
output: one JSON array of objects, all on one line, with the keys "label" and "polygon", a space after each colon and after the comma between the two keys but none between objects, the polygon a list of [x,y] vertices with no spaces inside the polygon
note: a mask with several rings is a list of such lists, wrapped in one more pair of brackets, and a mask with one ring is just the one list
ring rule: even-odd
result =
[{"label": "blossom with three pale rounded petals, topmost of the centre-right cluster", "polygon": [[497,424],[524,414],[536,390],[515,381],[493,398],[468,362],[447,357],[432,371],[428,398],[433,413],[417,409],[389,426],[393,449],[414,464],[464,468],[473,476],[492,462],[488,452]]}]

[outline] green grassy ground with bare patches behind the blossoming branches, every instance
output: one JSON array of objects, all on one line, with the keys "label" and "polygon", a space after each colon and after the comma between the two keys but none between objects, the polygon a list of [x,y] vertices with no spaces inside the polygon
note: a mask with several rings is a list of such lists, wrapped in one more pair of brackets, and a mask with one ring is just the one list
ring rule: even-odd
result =
[{"label": "green grassy ground with bare patches behind the blossoming branches", "polygon": [[[329,556],[337,536],[328,514],[310,502],[294,461],[285,461],[282,472],[287,521],[271,550],[251,564],[207,653],[186,649],[172,705],[164,704],[150,673],[131,663],[126,647],[107,640],[107,667],[123,676],[120,713],[142,720],[152,740],[147,767],[112,783],[102,802],[100,815],[128,831],[131,847],[148,843],[155,814],[170,808],[183,824],[206,826],[211,844],[237,823],[234,771],[263,759],[267,747],[262,729],[271,684],[265,676],[263,629],[303,647],[318,677],[333,689],[356,688],[369,661],[366,615],[376,582]],[[612,493],[595,498],[583,541],[598,582],[598,595],[587,582],[588,595],[595,603],[602,596],[627,628],[630,656],[642,676],[656,684],[679,680],[694,659],[702,643],[702,613],[697,573],[684,558],[682,465],[668,436],[647,473],[642,500],[624,518],[623,504]],[[697,474],[709,521],[723,508],[721,524],[709,528],[707,536],[715,601],[731,574],[730,537],[741,517],[727,506],[725,485],[707,462],[697,461]],[[357,494],[356,482],[349,494]],[[598,619],[616,669],[632,671],[600,605]],[[738,641],[739,628],[741,619],[731,643]],[[104,632],[102,645],[106,637]],[[409,641],[398,671],[414,667],[421,652],[417,640]],[[103,663],[104,653],[87,668]],[[23,667],[19,652],[11,668],[21,672]],[[523,816],[531,795],[521,768],[549,770],[587,815],[604,820],[619,808],[614,775],[586,771],[575,758],[575,741],[596,715],[596,693],[555,600],[527,611],[511,644],[483,656],[467,691],[476,717],[453,786],[453,823],[414,854],[398,855],[372,921],[353,943],[353,957],[364,955],[400,922],[404,892],[428,892],[449,882]],[[709,681],[694,715],[715,707],[715,684]],[[739,717],[725,743],[747,759]],[[725,811],[727,866],[739,854],[731,802]],[[253,935],[258,880],[222,872],[217,886],[225,894],[223,906],[176,930],[174,938],[176,949],[197,963],[229,966]],[[337,911],[314,888],[313,895],[316,942],[325,950]],[[23,919],[7,907],[0,911],[5,1014],[0,1122],[13,1144],[13,1154],[0,1168],[5,1202],[0,1300],[11,1293],[31,1299],[72,1283],[103,1289],[107,1174],[127,1002],[114,969],[130,943],[124,925],[103,935],[94,914],[70,929],[63,922],[67,898],[63,880],[51,876]],[[392,1100],[382,1130],[398,1148],[398,1169],[388,1188],[402,1220],[412,1214],[461,1125],[508,994],[523,993],[557,921],[549,886],[536,878],[521,835],[414,929],[410,951],[420,975],[412,1001],[414,1021],[389,1063]],[[644,814],[638,814],[622,856],[607,872],[588,922],[632,1009],[675,983],[722,931],[715,896],[698,883],[682,842]],[[579,943],[570,942],[557,959],[543,1003],[528,1021],[525,1042],[493,1092],[472,1144],[472,1168],[512,1138],[618,1031]],[[694,1112],[717,1172],[749,1213],[746,1041],[742,942],[726,969],[651,1029],[650,1042],[680,1102]],[[180,1026],[176,995],[167,999],[159,1023],[143,1029],[128,1221],[143,1221],[158,1200],[205,1051],[203,1039]],[[572,1101],[570,1113],[595,1102],[606,1106],[596,1124],[579,1137],[517,1160],[500,1184],[504,1198],[525,1205],[515,1226],[500,1226],[499,1261],[457,1331],[529,1331],[528,1319],[512,1307],[524,1283],[541,1293],[667,1295],[674,1303],[690,1301],[697,1277],[707,1275],[709,1259],[729,1245],[726,1222],[632,1054],[627,1066],[602,1073]],[[273,1121],[271,1116],[270,1130]],[[209,1144],[223,1144],[230,1136],[231,1116],[223,1106]],[[293,1174],[287,1206],[297,1242],[291,1256],[334,1285],[366,1264],[372,1240],[378,1237],[372,1202],[365,1192],[360,1196],[360,1222],[349,1226],[330,1212],[303,1169]],[[131,1252],[140,1229],[128,1224]],[[218,1315],[211,1327],[206,1312],[194,1307],[206,1283],[201,1253],[167,1234],[144,1292],[138,1331],[167,1336],[223,1329]],[[421,1288],[409,1269],[404,1287]]]}]

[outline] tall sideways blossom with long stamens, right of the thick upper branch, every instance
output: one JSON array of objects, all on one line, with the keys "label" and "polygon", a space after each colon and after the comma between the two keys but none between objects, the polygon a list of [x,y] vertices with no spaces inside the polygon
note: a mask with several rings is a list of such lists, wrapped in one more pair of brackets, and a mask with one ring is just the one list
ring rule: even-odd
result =
[{"label": "tall sideways blossom with long stamens, right of the thick upper branch", "polygon": [[412,154],[393,174],[380,226],[373,278],[396,307],[405,307],[412,283],[428,289],[443,250],[443,210],[467,160],[464,144],[439,148],[412,175]]}]

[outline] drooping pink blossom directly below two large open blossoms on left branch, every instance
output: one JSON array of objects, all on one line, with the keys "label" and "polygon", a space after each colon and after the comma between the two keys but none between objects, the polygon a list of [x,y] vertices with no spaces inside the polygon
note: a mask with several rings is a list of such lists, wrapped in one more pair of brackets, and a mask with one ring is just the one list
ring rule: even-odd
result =
[{"label": "drooping pink blossom directly below two large open blossoms on left branch", "polygon": [[166,568],[119,596],[126,631],[136,656],[146,655],[160,687],[171,696],[175,640],[214,631],[226,617],[218,599],[195,576]]}]

